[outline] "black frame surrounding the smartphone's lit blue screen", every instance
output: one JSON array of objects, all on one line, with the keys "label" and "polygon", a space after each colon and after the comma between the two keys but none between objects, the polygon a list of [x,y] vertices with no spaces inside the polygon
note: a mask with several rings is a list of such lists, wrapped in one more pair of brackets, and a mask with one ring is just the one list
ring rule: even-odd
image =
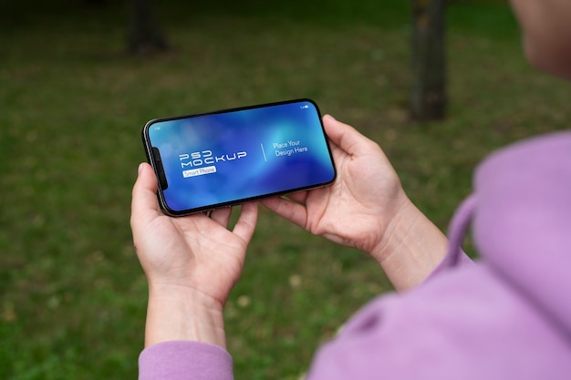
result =
[{"label": "black frame surrounding the smartphone's lit blue screen", "polygon": [[[256,195],[254,197],[249,197],[249,198],[241,198],[241,199],[237,199],[237,200],[228,200],[228,201],[224,201],[221,203],[210,204],[210,205],[197,207],[197,208],[193,208],[193,209],[188,209],[188,210],[183,210],[183,211],[171,210],[171,208],[168,206],[168,204],[165,200],[164,194],[163,194],[163,190],[166,190],[166,189],[163,189],[163,186],[162,186],[162,184],[164,183],[163,182],[164,171],[162,169],[162,162],[161,162],[160,158],[155,157],[155,154],[152,151],[153,147],[151,146],[151,140],[149,138],[149,128],[151,128],[151,125],[153,125],[157,122],[163,122],[163,121],[180,120],[180,119],[184,119],[184,118],[198,118],[198,117],[205,117],[205,116],[216,115],[216,114],[244,111],[244,110],[253,109],[253,108],[267,108],[267,107],[274,107],[274,106],[280,106],[280,105],[292,104],[292,103],[300,103],[300,102],[311,103],[317,110],[317,118],[319,119],[319,124],[321,126],[321,130],[323,131],[323,136],[325,138],[327,151],[329,154],[329,159],[331,160],[331,166],[333,169],[333,177],[331,180],[328,180],[327,182],[323,182],[323,183],[317,183],[315,185],[298,187],[298,188],[293,188],[293,189],[288,189],[288,190],[275,191],[272,193]],[[328,185],[332,184],[337,179],[337,168],[335,165],[335,161],[333,159],[331,147],[329,145],[329,139],[327,138],[327,133],[326,133],[325,128],[323,126],[323,118],[321,116],[321,112],[320,112],[319,108],[317,107],[317,103],[315,101],[313,101],[312,99],[309,99],[309,98],[296,98],[296,99],[291,99],[291,100],[256,104],[256,105],[237,107],[237,108],[223,108],[223,109],[219,109],[219,110],[215,110],[215,111],[202,112],[202,113],[197,113],[197,114],[188,114],[188,115],[175,116],[175,117],[169,117],[169,118],[153,118],[153,119],[149,120],[145,124],[145,126],[142,128],[141,137],[142,137],[143,147],[145,149],[145,154],[147,156],[147,161],[151,164],[151,167],[154,170],[155,176],[157,177],[157,180],[159,182],[158,183],[159,186],[158,186],[158,190],[157,190],[157,198],[159,200],[159,205],[161,206],[161,210],[165,214],[173,216],[173,217],[191,215],[194,213],[204,212],[204,211],[213,211],[213,210],[221,209],[224,207],[232,207],[232,206],[240,205],[240,204],[248,202],[248,201],[262,200],[265,198],[282,196],[282,195],[290,194],[290,193],[297,192],[297,191],[317,189],[317,188],[321,188],[324,186],[328,186]],[[159,156],[160,156],[160,154],[159,154]],[[159,162],[160,165],[157,163],[157,161]],[[166,182],[166,179],[164,181]],[[168,183],[167,183],[167,185],[168,185]]]}]

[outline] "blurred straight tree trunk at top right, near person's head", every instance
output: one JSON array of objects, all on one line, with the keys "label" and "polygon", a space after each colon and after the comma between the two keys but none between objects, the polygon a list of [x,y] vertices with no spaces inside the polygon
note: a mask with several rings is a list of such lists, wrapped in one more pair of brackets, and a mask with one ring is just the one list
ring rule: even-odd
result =
[{"label": "blurred straight tree trunk at top right, near person's head", "polygon": [[412,118],[446,116],[445,0],[412,2]]}]

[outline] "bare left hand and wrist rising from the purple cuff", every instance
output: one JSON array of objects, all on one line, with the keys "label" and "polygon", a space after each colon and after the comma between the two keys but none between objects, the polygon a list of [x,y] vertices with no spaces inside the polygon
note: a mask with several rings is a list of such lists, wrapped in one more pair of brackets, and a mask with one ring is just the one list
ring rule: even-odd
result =
[{"label": "bare left hand and wrist rising from the purple cuff", "polygon": [[242,205],[229,231],[230,208],[171,218],[159,210],[156,193],[156,176],[143,163],[130,224],[149,282],[146,344],[197,340],[224,346],[223,304],[242,272],[257,204]]}]

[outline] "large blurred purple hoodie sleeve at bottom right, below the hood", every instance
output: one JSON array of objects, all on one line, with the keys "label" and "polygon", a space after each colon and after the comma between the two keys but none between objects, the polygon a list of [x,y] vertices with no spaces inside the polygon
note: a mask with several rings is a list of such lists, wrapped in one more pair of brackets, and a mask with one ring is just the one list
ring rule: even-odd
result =
[{"label": "large blurred purple hoodie sleeve at bottom right, below the hood", "polygon": [[369,303],[321,347],[306,380],[564,379],[570,347],[533,303],[472,264]]}]

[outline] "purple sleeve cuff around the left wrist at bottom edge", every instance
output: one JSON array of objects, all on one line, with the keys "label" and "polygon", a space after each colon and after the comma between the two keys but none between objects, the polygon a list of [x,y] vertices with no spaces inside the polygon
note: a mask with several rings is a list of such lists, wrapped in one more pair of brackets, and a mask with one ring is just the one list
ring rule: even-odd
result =
[{"label": "purple sleeve cuff around the left wrist at bottom edge", "polygon": [[139,380],[233,380],[232,357],[201,342],[153,344],[139,357]]}]

